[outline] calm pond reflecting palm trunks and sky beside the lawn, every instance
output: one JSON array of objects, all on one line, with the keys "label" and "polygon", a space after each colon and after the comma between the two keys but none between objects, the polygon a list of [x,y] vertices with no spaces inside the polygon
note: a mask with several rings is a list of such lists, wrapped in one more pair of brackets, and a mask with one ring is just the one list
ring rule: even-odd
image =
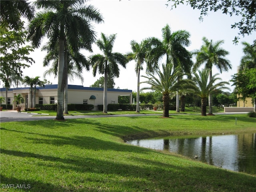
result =
[{"label": "calm pond reflecting palm trunks and sky beside the lawn", "polygon": [[169,150],[228,170],[256,174],[256,133],[219,136],[179,136],[127,141]]}]

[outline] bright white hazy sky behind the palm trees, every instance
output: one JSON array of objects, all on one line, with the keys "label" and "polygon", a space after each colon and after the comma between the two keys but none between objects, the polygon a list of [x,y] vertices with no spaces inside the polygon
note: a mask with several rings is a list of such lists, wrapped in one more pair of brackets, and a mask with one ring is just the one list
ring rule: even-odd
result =
[{"label": "bright white hazy sky behind the palm trees", "polygon": [[[226,58],[230,61],[232,70],[222,72],[218,77],[222,78],[223,81],[230,82],[231,76],[237,72],[237,67],[243,56],[241,42],[245,41],[252,44],[256,39],[256,32],[249,36],[240,36],[239,43],[235,45],[232,40],[238,34],[238,29],[231,29],[231,25],[234,22],[240,21],[238,16],[230,17],[229,15],[222,14],[222,12],[209,12],[208,16],[204,16],[204,20],[201,22],[198,19],[200,17],[199,10],[193,10],[187,5],[179,5],[176,9],[170,10],[170,6],[166,6],[167,3],[167,0],[91,0],[86,4],[92,4],[104,17],[104,23],[92,23],[97,34],[97,39],[100,38],[101,32],[106,35],[116,34],[113,52],[120,52],[122,54],[130,52],[130,42],[132,40],[141,42],[148,37],[162,39],[162,28],[166,24],[170,26],[172,32],[177,30],[187,30],[190,32],[191,44],[187,47],[190,51],[200,49],[203,37],[214,42],[224,40],[224,44],[221,47],[230,53]],[[42,45],[44,44],[45,41]],[[93,45],[93,53],[85,50],[81,52],[86,57],[92,54],[102,54],[95,44]],[[40,76],[41,80],[43,80],[43,73],[49,68],[42,66],[45,55],[46,52],[42,52],[40,48],[31,52],[30,57],[35,60],[35,64],[30,68],[24,69],[23,75],[30,77]],[[213,74],[220,73],[216,67],[213,68],[212,72]],[[145,75],[145,71],[142,71],[141,74]],[[74,79],[73,81],[69,80],[68,84],[89,87],[100,76],[103,75],[97,74],[94,77],[92,70],[89,72],[84,70],[84,82]],[[54,76],[46,76],[46,79],[52,82],[52,84],[58,83],[57,78],[54,79]],[[146,79],[140,78],[141,82],[144,80]],[[115,79],[115,83],[115,88],[137,91],[135,61],[129,62],[126,65],[126,69],[120,66],[120,77]],[[141,88],[147,86],[147,84],[140,85]],[[228,87],[233,91],[234,87]]]}]

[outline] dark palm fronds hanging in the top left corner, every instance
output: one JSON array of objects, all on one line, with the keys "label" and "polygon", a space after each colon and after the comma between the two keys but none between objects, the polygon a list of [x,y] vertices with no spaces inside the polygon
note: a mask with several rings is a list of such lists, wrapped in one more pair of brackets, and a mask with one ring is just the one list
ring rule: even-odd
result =
[{"label": "dark palm fronds hanging in the top left corner", "polygon": [[30,5],[28,0],[2,0],[0,1],[0,15],[1,30],[8,28],[17,30],[23,26],[21,16],[28,20],[33,18],[34,7]]}]

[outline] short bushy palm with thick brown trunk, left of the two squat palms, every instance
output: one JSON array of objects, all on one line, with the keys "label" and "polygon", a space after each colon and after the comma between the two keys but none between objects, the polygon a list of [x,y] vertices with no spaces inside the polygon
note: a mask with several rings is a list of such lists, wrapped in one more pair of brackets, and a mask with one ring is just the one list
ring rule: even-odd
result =
[{"label": "short bushy palm with thick brown trunk, left of the two squat palms", "polygon": [[160,91],[163,95],[163,117],[169,117],[170,94],[176,92],[180,86],[188,83],[186,80],[177,81],[177,79],[182,76],[182,70],[179,67],[174,68],[171,62],[162,64],[162,71],[158,69],[156,70],[156,74],[157,75],[147,72],[147,76],[142,76],[148,78],[148,80],[141,83],[150,85],[150,87],[142,88],[142,90],[151,89]]}]

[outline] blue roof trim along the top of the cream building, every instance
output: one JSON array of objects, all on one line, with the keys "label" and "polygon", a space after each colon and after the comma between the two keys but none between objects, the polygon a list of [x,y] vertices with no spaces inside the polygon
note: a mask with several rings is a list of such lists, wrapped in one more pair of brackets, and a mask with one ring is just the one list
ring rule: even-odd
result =
[{"label": "blue roof trim along the top of the cream building", "polygon": [[[44,87],[37,87],[36,89],[57,89],[58,85],[53,84],[53,85],[45,85]],[[24,90],[24,89],[29,89],[29,87],[22,87],[22,88],[10,88],[9,91],[12,90]],[[103,88],[98,88],[98,87],[84,87],[82,85],[68,85],[68,89],[75,89],[75,90],[91,90],[91,91],[103,91]],[[0,88],[0,91],[5,91],[6,88]],[[108,91],[112,92],[128,92],[132,93],[132,90],[128,89],[108,89]]]}]

